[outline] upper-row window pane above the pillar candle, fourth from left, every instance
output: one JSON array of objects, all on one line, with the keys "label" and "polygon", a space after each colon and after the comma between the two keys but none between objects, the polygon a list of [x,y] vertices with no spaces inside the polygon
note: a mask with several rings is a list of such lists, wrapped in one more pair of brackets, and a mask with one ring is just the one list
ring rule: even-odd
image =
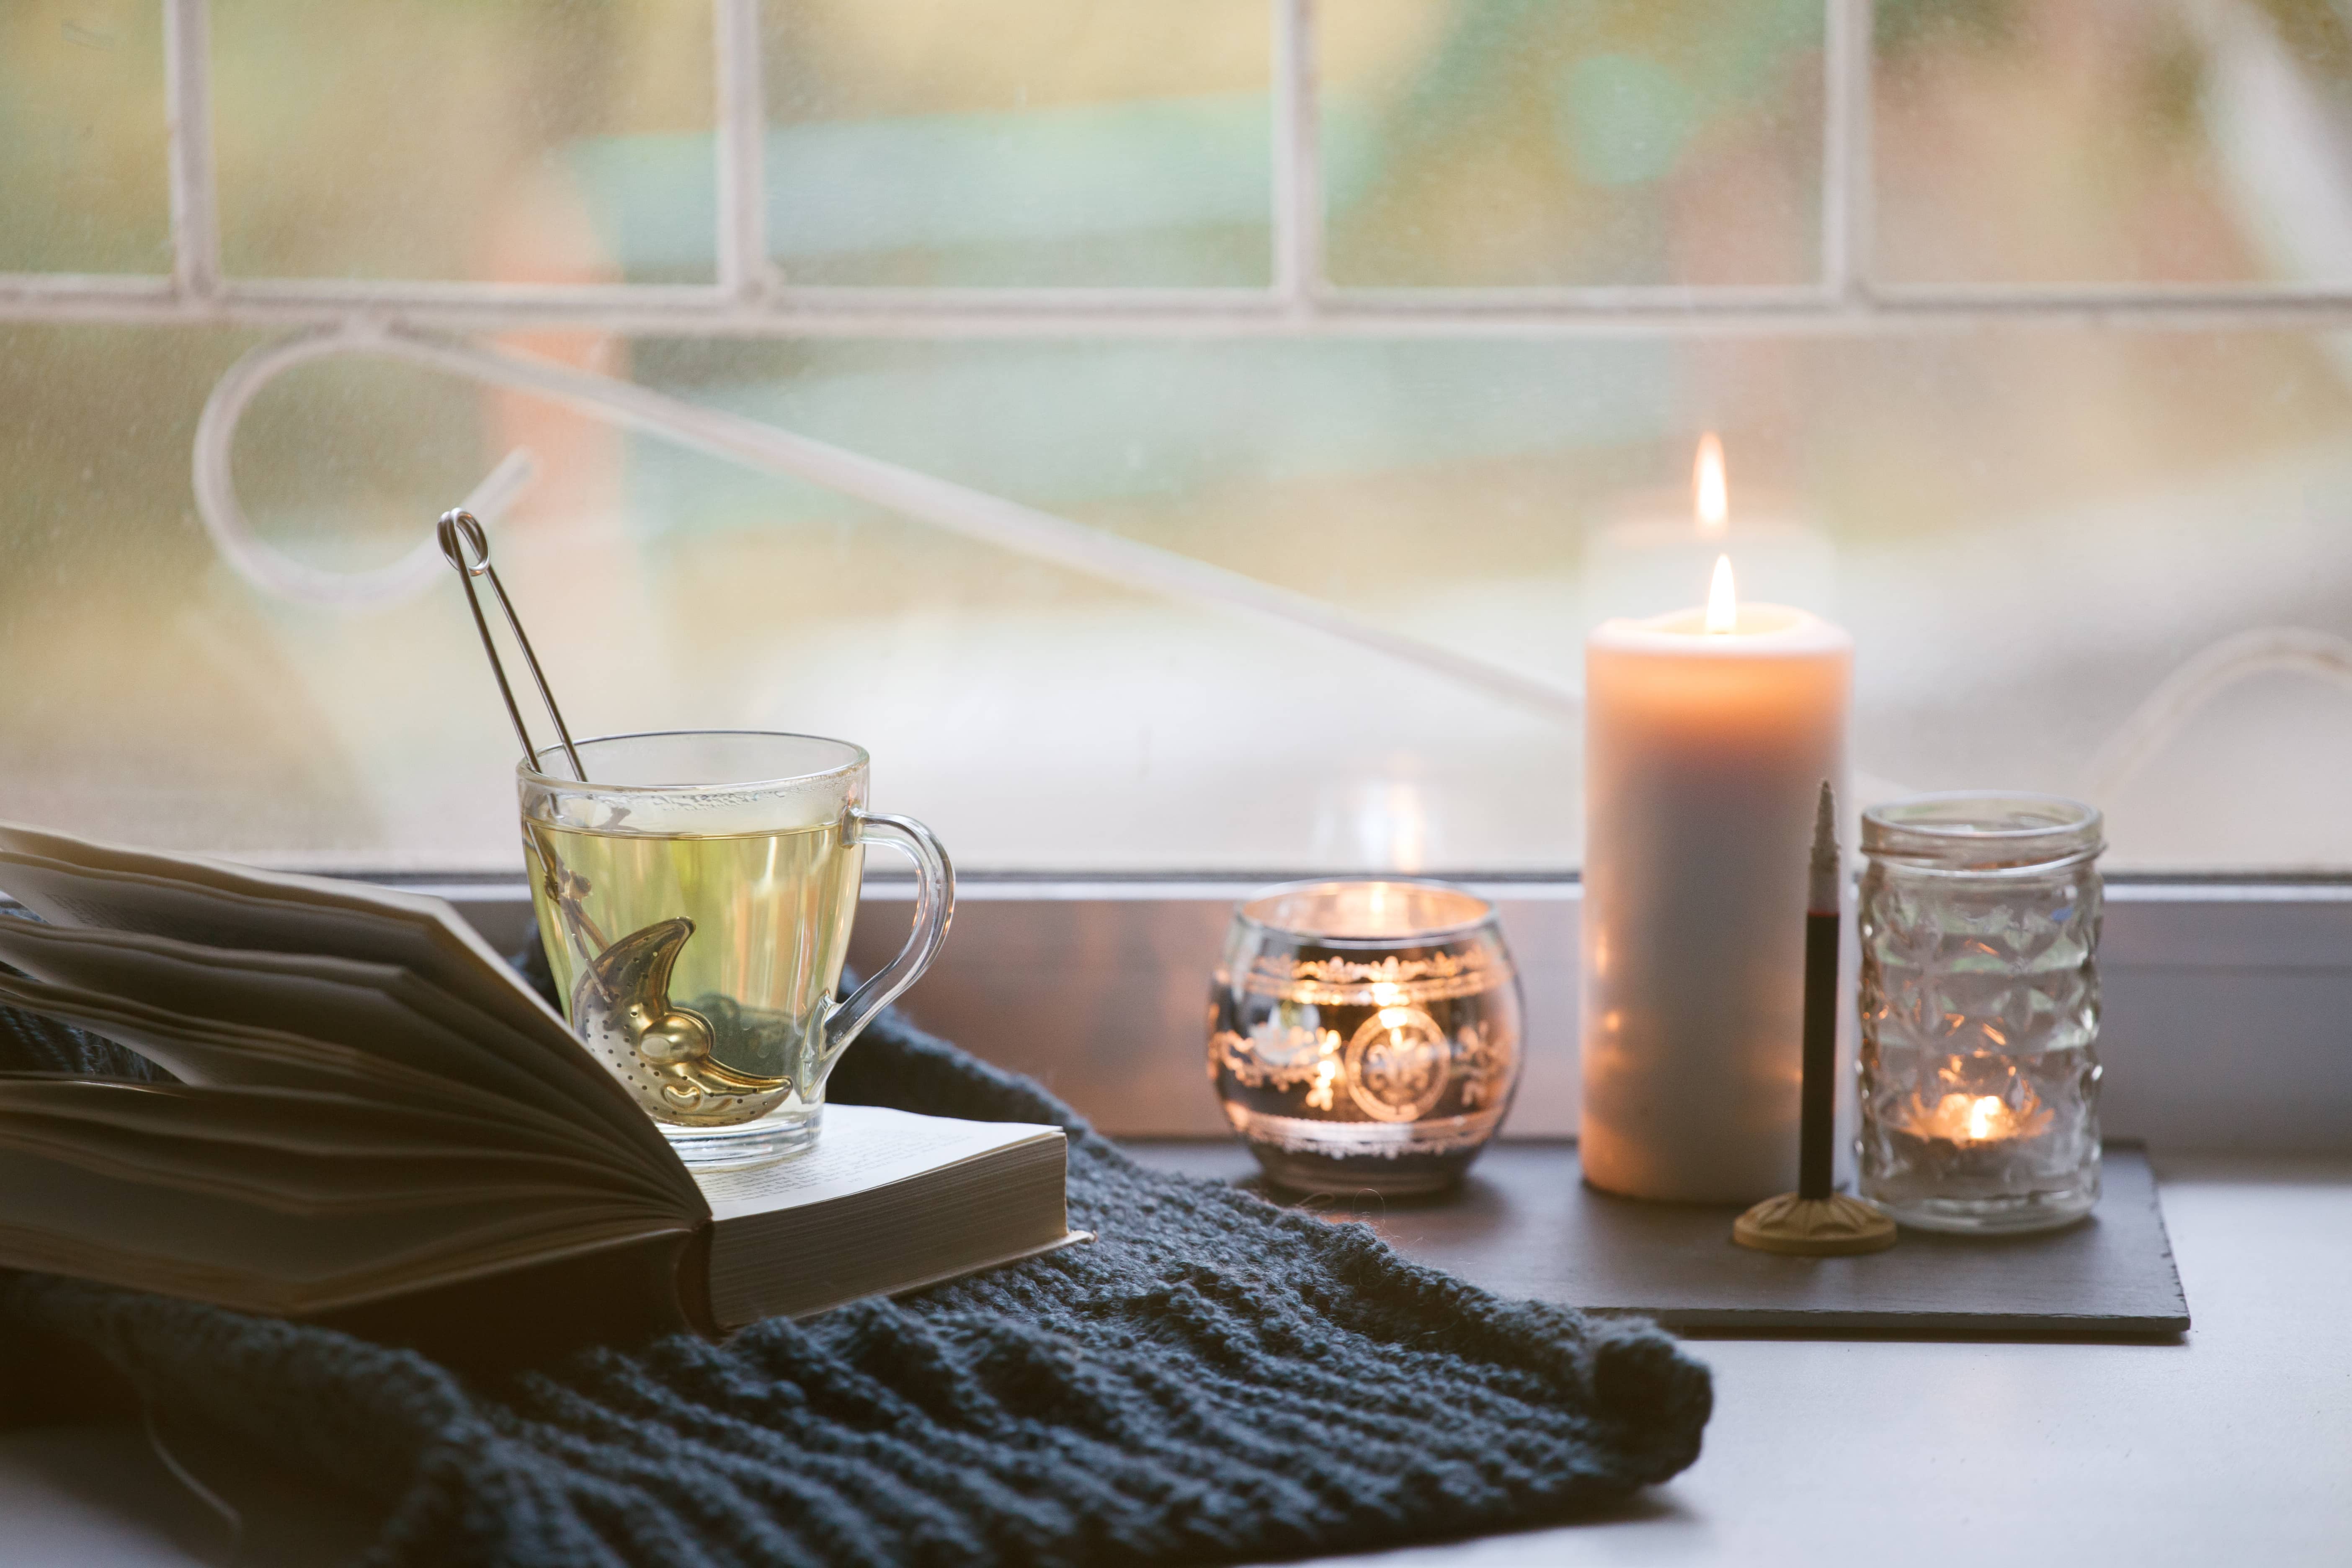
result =
[{"label": "upper-row window pane above the pillar candle, fourth from left", "polygon": [[1809,282],[1820,0],[1322,7],[1348,284]]}]

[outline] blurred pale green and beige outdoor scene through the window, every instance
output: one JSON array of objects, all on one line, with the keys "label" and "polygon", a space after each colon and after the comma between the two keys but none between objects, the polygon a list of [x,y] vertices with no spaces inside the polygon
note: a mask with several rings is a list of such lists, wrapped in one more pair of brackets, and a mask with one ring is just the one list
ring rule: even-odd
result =
[{"label": "blurred pale green and beige outdoor scene through the window", "polygon": [[[1769,301],[1832,261],[1820,0],[1312,16],[1324,299]],[[221,273],[708,289],[713,26],[708,0],[216,0]],[[2126,870],[2352,867],[2352,5],[1877,5],[1875,282],[2286,301],[2164,324],[1143,329],[1122,299],[1279,282],[1268,0],[767,0],[757,31],[779,299],[873,292],[870,329],[569,320],[501,346],[1569,691],[1599,614],[1670,607],[1611,599],[1651,588],[1606,576],[1609,529],[1686,515],[1717,430],[1733,529],[1797,517],[1795,592],[1858,639],[1865,790],[2093,792]],[[0,7],[0,273],[169,275],[167,143],[153,0]],[[1103,294],[1063,329],[891,303],[1035,289]],[[294,602],[200,527],[205,397],[287,331],[0,280],[0,813],[515,867],[515,748],[449,574]],[[303,364],[233,458],[273,548],[365,569],[515,447],[539,477],[496,557],[579,733],[861,741],[877,804],[967,867],[1578,863],[1571,712],[517,390]],[[2216,644],[2241,679],[2157,724]]]}]

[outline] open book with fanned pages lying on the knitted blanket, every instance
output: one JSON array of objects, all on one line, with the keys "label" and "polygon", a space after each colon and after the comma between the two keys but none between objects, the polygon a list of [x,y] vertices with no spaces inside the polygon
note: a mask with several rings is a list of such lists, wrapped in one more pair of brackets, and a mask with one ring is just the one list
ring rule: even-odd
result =
[{"label": "open book with fanned pages lying on the knitted blanket", "polygon": [[0,1074],[0,1267],[524,1363],[1077,1239],[1061,1128],[833,1105],[694,1175],[437,898],[0,823],[0,1004],[176,1084]]}]

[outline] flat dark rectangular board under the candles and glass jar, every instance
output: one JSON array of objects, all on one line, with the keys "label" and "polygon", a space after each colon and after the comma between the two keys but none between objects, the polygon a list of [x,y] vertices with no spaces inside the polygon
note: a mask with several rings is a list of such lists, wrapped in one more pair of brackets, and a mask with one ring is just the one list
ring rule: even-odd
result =
[{"label": "flat dark rectangular board under the candles and glass jar", "polygon": [[[1237,1143],[1131,1143],[1157,1168],[1256,1182]],[[1268,1192],[1268,1197],[1279,1197]],[[1738,1208],[1642,1204],[1583,1185],[1573,1143],[1498,1143],[1446,1199],[1291,1199],[1367,1220],[1406,1258],[1501,1295],[1623,1312],[1679,1333],[2178,1335],[2190,1307],[2147,1152],[2110,1143],[2089,1220],[2039,1237],[1905,1229],[1865,1258],[1731,1244]]]}]

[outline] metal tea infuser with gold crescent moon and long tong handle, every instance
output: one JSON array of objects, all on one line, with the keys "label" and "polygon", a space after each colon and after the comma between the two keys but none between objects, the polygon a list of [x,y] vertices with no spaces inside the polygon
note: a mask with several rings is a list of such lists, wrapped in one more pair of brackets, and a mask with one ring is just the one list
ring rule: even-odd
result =
[{"label": "metal tea infuser with gold crescent moon and long tong handle", "polygon": [[[555,705],[555,691],[539,665],[539,654],[532,651],[532,637],[522,630],[522,616],[515,614],[515,602],[506,595],[499,569],[489,562],[489,534],[482,529],[482,522],[466,510],[442,512],[435,538],[466,585],[466,607],[473,611],[473,625],[482,637],[482,654],[489,658],[489,672],[499,682],[499,698],[506,703],[506,717],[515,724],[515,741],[522,743],[524,762],[536,764],[539,748],[522,722],[515,686],[506,679],[499,644],[489,635],[489,616],[482,614],[482,597],[473,585],[475,578],[489,578],[492,592],[499,595],[499,609],[506,611],[506,625],[515,635],[522,663],[532,670],[532,684],[539,686],[539,701],[555,724],[555,736],[572,762],[572,773],[581,783],[588,783],[588,769],[572,743],[572,729],[564,724],[562,708]],[[536,832],[529,823],[524,827]],[[753,1079],[715,1060],[717,1030],[710,1020],[689,1006],[670,1001],[670,973],[677,966],[677,954],[694,938],[694,922],[680,914],[630,931],[619,940],[607,940],[588,917],[583,903],[593,889],[588,889],[579,872],[564,867],[557,856],[543,846],[534,849],[539,849],[534,858],[539,860],[548,903],[562,914],[564,940],[581,954],[581,978],[572,990],[572,1025],[579,1037],[607,1056],[612,1056],[614,1046],[635,1053],[659,1084],[663,1107],[673,1114],[724,1112],[736,1103],[774,1095],[779,1086],[771,1079]]]}]

